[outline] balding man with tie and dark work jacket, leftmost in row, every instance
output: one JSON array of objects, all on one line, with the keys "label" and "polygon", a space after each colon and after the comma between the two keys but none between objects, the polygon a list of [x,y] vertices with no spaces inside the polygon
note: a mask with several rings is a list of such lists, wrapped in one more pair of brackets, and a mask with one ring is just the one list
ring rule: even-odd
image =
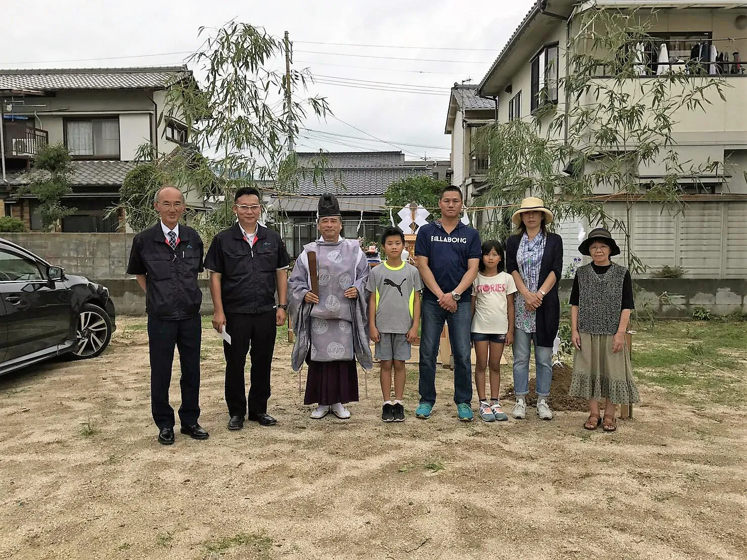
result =
[{"label": "balding man with tie and dark work jacket, leftmost in row", "polygon": [[197,273],[202,272],[202,239],[188,225],[180,224],[185,197],[176,187],[162,187],[153,206],[161,220],[132,240],[127,273],[134,274],[146,293],[150,353],[150,400],[158,442],[174,443],[174,409],[169,404],[174,347],[182,366],[182,434],[196,440],[208,438],[197,423],[199,417],[199,349],[202,323],[199,306],[202,291]]}]

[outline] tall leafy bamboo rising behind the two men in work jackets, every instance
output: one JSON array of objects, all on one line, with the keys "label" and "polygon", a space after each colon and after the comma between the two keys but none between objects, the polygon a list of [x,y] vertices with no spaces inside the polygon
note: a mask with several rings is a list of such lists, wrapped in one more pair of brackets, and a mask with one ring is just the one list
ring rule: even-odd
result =
[{"label": "tall leafy bamboo rising behind the two men in work jackets", "polygon": [[[288,149],[288,136],[298,135],[298,124],[307,113],[329,112],[326,99],[301,97],[311,80],[308,69],[292,70],[289,77],[270,69],[284,47],[281,39],[263,28],[229,22],[219,29],[200,28],[199,35],[207,36],[205,42],[187,59],[197,79],[170,85],[158,119],[159,125],[164,116],[185,122],[190,149],[177,155],[156,153],[154,146],[141,149],[140,157],[152,167],[137,175],[137,194],[130,190],[121,199],[119,206],[128,215],[149,212],[136,205],[144,204],[145,190],[152,190],[159,180],[200,193],[208,204],[219,206],[232,201],[235,190],[256,181],[273,181],[281,190],[292,191],[297,158]],[[298,92],[290,102],[288,88]],[[212,231],[231,225],[234,217],[218,208],[195,214],[191,220],[208,239]]]}]

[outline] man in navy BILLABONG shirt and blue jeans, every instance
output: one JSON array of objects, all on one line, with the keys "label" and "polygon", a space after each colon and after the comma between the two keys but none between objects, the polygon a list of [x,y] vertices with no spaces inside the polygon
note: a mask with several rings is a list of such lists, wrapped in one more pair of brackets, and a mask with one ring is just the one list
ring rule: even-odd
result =
[{"label": "man in navy BILLABONG shirt and blue jeans", "polygon": [[444,322],[454,355],[454,402],[459,420],[472,420],[470,345],[472,282],[480,264],[480,234],[459,221],[462,191],[446,187],[438,201],[441,221],[424,225],[415,240],[415,256],[423,279],[418,418],[428,418],[436,404],[436,355]]}]

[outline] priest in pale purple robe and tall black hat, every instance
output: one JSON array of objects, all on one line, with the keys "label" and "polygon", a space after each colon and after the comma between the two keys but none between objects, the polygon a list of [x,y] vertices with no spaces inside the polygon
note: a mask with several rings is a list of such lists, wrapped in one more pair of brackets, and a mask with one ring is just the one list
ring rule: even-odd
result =
[{"label": "priest in pale purple robe and tall black hat", "polygon": [[371,369],[367,302],[368,260],[357,239],[345,239],[340,206],[334,195],[319,199],[317,226],[321,237],[303,247],[288,279],[289,311],[296,332],[291,355],[294,371],[304,361],[306,405],[317,403],[311,417],[329,411],[350,418],[347,402],[358,400],[356,359]]}]

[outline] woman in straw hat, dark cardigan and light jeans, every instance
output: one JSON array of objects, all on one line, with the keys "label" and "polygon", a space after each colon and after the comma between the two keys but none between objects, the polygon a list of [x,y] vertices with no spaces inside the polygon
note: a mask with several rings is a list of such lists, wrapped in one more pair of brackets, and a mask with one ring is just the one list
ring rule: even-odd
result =
[{"label": "woman in straw hat, dark cardigan and light jeans", "polygon": [[506,271],[513,276],[518,292],[514,310],[514,418],[527,414],[529,357],[534,343],[537,367],[537,415],[551,420],[548,405],[553,379],[553,342],[560,325],[560,299],[557,283],[562,270],[562,239],[547,231],[554,220],[545,202],[534,196],[521,201],[511,217],[518,233],[506,241]]}]

